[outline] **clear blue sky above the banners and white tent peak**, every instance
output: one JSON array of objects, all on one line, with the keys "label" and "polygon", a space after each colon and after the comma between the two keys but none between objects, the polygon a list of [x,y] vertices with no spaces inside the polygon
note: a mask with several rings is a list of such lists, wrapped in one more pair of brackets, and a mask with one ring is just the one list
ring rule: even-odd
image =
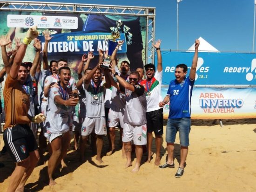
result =
[{"label": "clear blue sky above the banners and white tent peak", "polygon": [[[69,0],[48,0],[68,2]],[[155,38],[162,49],[177,48],[177,0],[74,0],[74,3],[156,8]],[[179,3],[179,50],[200,36],[220,51],[251,52],[254,0],[182,0]],[[255,48],[256,50],[256,48]]]}]

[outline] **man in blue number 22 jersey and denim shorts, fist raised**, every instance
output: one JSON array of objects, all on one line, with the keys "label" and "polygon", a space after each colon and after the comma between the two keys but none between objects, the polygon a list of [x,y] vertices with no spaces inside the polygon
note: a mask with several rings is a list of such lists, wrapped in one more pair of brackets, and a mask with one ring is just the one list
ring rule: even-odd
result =
[{"label": "man in blue number 22 jersey and denim shorts, fist raised", "polygon": [[174,142],[177,131],[180,135],[181,144],[181,161],[178,171],[175,174],[176,178],[183,175],[184,167],[186,166],[186,158],[189,151],[189,132],[190,132],[190,117],[191,117],[191,96],[192,89],[195,83],[195,72],[198,59],[198,47],[200,41],[195,40],[195,54],[190,68],[189,77],[186,77],[188,66],[179,64],[175,69],[175,78],[170,82],[166,97],[159,103],[163,107],[170,101],[170,111],[166,126],[166,142],[168,151],[167,162],[159,166],[160,168],[174,168]]}]

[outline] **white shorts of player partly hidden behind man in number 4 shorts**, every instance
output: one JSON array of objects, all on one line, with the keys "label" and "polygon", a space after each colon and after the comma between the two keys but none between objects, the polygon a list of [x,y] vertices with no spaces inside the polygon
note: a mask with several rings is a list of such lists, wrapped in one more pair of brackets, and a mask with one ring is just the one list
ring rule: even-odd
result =
[{"label": "white shorts of player partly hidden behind man in number 4 shorts", "polygon": [[109,109],[108,112],[108,126],[115,127],[120,123],[121,128],[124,126],[123,122],[124,110],[118,108],[118,110]]}]

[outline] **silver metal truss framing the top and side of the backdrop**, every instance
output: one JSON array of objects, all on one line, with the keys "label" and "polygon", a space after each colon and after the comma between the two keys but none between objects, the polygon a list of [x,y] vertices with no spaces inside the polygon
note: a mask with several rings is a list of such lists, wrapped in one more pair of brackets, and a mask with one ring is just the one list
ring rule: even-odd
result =
[{"label": "silver metal truss framing the top and side of the backdrop", "polygon": [[139,16],[147,18],[146,26],[146,63],[155,63],[155,8],[112,5],[92,5],[60,2],[0,1],[0,11],[30,11],[41,13],[85,13]]}]

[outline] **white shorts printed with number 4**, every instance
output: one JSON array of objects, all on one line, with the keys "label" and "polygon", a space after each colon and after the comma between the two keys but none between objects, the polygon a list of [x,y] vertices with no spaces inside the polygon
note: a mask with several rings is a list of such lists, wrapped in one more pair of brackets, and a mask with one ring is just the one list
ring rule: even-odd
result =
[{"label": "white shorts printed with number 4", "polygon": [[123,142],[131,142],[137,146],[142,146],[147,144],[147,124],[141,126],[132,126],[127,123],[123,127]]}]

